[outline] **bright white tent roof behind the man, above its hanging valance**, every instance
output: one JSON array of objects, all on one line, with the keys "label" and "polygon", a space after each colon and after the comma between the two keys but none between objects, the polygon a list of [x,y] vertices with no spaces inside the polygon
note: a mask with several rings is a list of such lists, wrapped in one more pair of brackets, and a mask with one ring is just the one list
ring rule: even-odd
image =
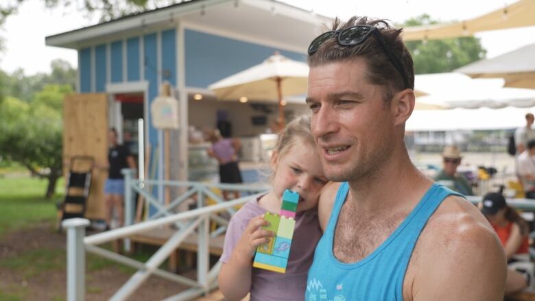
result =
[{"label": "bright white tent roof behind the man, above its hanging valance", "polygon": [[444,108],[535,106],[535,90],[503,88],[503,84],[505,81],[501,78],[472,79],[461,73],[416,75],[416,89],[427,94],[416,101]]}]

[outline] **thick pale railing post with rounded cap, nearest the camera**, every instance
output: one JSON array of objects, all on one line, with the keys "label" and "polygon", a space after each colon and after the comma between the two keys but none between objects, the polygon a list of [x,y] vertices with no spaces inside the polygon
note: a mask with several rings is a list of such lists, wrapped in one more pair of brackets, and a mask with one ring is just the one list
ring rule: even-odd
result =
[{"label": "thick pale railing post with rounded cap, nearest the camera", "polygon": [[86,295],[86,252],[84,236],[88,219],[65,219],[67,229],[67,301],[83,301]]}]

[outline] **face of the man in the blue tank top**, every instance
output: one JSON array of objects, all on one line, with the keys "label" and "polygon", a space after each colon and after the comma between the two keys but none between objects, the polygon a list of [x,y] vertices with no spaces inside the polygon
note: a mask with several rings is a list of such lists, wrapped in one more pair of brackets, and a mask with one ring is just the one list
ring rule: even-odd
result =
[{"label": "face of the man in the blue tank top", "polygon": [[365,76],[366,62],[333,62],[309,72],[311,130],[326,178],[352,181],[390,158],[395,139],[381,86]]}]

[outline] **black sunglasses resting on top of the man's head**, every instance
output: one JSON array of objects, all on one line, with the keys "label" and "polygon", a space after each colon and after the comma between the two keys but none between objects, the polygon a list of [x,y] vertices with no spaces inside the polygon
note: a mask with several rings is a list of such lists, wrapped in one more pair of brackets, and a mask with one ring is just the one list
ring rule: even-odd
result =
[{"label": "black sunglasses resting on top of the man's head", "polygon": [[403,84],[405,84],[405,88],[412,88],[409,86],[409,80],[407,79],[407,75],[405,75],[405,69],[403,68],[403,64],[394,56],[394,53],[392,53],[392,50],[386,45],[385,40],[383,39],[383,36],[381,36],[381,32],[377,27],[372,25],[355,25],[352,27],[348,27],[346,29],[338,29],[336,31],[331,30],[330,32],[324,32],[323,34],[320,34],[317,38],[312,40],[312,43],[309,45],[308,53],[309,56],[312,56],[320,46],[326,41],[329,40],[329,38],[332,38],[333,36],[337,36],[337,43],[340,46],[355,46],[363,43],[368,36],[375,36],[377,40],[379,40],[379,43],[381,44],[381,47],[383,47],[383,50],[385,51],[386,56],[388,56],[388,59],[396,68],[396,70],[401,74],[401,77],[403,77]]}]

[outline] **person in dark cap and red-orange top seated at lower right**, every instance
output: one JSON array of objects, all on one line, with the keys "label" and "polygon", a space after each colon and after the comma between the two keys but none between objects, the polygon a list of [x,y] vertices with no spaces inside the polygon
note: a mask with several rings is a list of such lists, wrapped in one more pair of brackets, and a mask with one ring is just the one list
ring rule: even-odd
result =
[{"label": "person in dark cap and red-orange top seated at lower right", "polygon": [[[529,226],[514,208],[507,205],[506,199],[501,193],[487,193],[479,208],[498,234],[508,263],[516,261],[514,258],[516,254],[527,254]],[[529,274],[508,268],[506,295],[525,289],[530,281],[527,275]]]}]

